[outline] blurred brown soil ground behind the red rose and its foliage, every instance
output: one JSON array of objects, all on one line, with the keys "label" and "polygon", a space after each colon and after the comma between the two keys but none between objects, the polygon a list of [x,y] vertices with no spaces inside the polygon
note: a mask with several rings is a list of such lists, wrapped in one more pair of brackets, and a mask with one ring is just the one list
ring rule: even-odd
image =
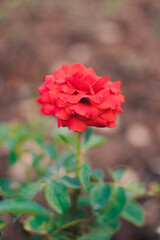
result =
[{"label": "blurred brown soil ground behind the red rose and its foliage", "polygon": [[[126,98],[118,126],[95,129],[108,142],[90,151],[92,166],[122,166],[127,180],[158,183],[160,1],[0,1],[1,124],[42,118],[35,103],[37,88],[46,74],[73,62],[121,80]],[[0,177],[8,175],[5,160],[1,149]],[[143,205],[148,210],[146,226],[138,229],[124,222],[114,240],[160,239],[160,199],[146,199]]]}]

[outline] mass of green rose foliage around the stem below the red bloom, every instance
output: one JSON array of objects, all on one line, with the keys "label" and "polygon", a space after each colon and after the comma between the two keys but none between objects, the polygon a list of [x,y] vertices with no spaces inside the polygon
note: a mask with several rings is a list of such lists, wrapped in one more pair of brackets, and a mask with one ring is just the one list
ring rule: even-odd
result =
[{"label": "mass of green rose foliage around the stem below the red bloom", "polygon": [[[139,181],[121,186],[124,169],[109,170],[113,181],[108,183],[103,171],[92,170],[82,156],[106,139],[88,128],[77,162],[75,134],[60,128],[53,135],[50,126],[37,121],[0,126],[0,145],[8,150],[10,164],[23,162],[24,153],[32,159],[23,182],[0,180],[5,199],[0,202],[0,213],[19,219],[30,239],[45,235],[46,240],[109,240],[121,218],[141,226],[144,216],[136,198],[146,193],[144,186]],[[43,194],[47,207],[36,202]],[[22,214],[29,217],[21,221]],[[6,224],[0,221],[0,230]]]}]

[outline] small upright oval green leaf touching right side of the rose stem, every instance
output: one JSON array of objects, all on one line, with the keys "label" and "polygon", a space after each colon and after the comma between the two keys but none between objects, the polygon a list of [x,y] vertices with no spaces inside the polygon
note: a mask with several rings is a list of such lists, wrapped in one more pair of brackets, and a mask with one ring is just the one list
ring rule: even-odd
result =
[{"label": "small upright oval green leaf touching right side of the rose stem", "polygon": [[83,186],[86,186],[89,182],[89,179],[91,177],[91,169],[90,166],[87,163],[83,163],[80,169],[80,182]]}]

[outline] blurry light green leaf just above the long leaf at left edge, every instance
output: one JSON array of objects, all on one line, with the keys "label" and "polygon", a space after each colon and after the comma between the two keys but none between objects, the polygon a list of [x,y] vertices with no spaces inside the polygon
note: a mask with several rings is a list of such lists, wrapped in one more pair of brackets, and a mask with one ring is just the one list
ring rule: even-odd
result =
[{"label": "blurry light green leaf just above the long leaf at left edge", "polygon": [[41,188],[40,182],[30,183],[20,190],[18,196],[22,196],[26,199],[32,199],[40,190],[40,188]]}]

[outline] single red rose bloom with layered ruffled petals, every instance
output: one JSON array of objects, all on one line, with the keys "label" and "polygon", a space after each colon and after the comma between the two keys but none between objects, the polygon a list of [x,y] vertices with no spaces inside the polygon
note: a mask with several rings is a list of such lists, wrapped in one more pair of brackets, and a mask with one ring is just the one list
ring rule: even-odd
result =
[{"label": "single red rose bloom with layered ruffled petals", "polygon": [[88,126],[115,127],[116,115],[123,112],[121,82],[99,77],[81,63],[62,65],[47,75],[39,88],[41,113],[57,117],[58,127],[82,132]]}]

